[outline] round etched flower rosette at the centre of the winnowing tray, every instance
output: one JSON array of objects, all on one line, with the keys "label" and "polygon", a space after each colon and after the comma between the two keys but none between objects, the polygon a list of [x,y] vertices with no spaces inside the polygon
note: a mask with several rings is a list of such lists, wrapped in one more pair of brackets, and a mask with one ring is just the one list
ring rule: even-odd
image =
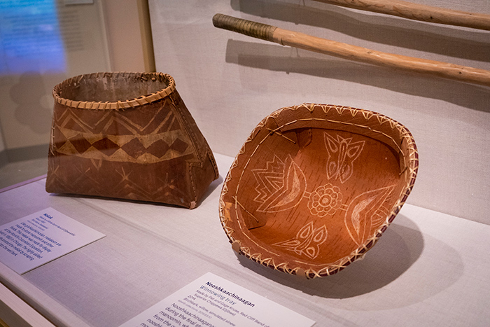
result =
[{"label": "round etched flower rosette at the centre of the winnowing tray", "polygon": [[342,193],[332,184],[318,186],[309,196],[308,209],[314,216],[324,217],[335,214],[340,206],[342,206]]}]

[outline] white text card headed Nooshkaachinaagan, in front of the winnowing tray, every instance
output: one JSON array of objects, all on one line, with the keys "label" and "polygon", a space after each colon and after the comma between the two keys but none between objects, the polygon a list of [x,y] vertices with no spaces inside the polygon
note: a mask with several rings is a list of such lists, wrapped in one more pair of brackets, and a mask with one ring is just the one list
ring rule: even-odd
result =
[{"label": "white text card headed Nooshkaachinaagan, in front of the winnowing tray", "polygon": [[208,272],[120,327],[311,327],[314,323]]}]

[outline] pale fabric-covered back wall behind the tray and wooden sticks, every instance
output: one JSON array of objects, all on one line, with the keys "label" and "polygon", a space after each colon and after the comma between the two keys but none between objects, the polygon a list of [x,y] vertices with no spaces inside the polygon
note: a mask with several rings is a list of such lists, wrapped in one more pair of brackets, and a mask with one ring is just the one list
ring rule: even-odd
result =
[{"label": "pale fabric-covered back wall behind the tray and wooden sticks", "polygon": [[[490,13],[487,0],[419,3]],[[490,32],[309,0],[151,0],[158,71],[171,74],[213,151],[235,156],[282,106],[339,104],[390,116],[414,134],[408,203],[490,223],[490,88],[395,71],[216,29],[215,13],[400,55],[490,70]],[[226,172],[221,172],[223,176]]]}]

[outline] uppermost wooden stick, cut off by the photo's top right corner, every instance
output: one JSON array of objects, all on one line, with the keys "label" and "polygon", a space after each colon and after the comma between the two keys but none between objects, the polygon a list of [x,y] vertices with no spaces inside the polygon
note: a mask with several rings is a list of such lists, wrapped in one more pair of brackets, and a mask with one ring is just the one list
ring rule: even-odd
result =
[{"label": "uppermost wooden stick, cut off by the photo's top right corner", "polygon": [[436,22],[439,24],[471,27],[474,29],[485,29],[490,31],[490,15],[483,13],[468,13],[465,11],[454,11],[446,8],[437,8],[423,4],[413,4],[401,0],[316,0],[327,4],[373,11],[395,15],[411,20],[423,22]]}]

